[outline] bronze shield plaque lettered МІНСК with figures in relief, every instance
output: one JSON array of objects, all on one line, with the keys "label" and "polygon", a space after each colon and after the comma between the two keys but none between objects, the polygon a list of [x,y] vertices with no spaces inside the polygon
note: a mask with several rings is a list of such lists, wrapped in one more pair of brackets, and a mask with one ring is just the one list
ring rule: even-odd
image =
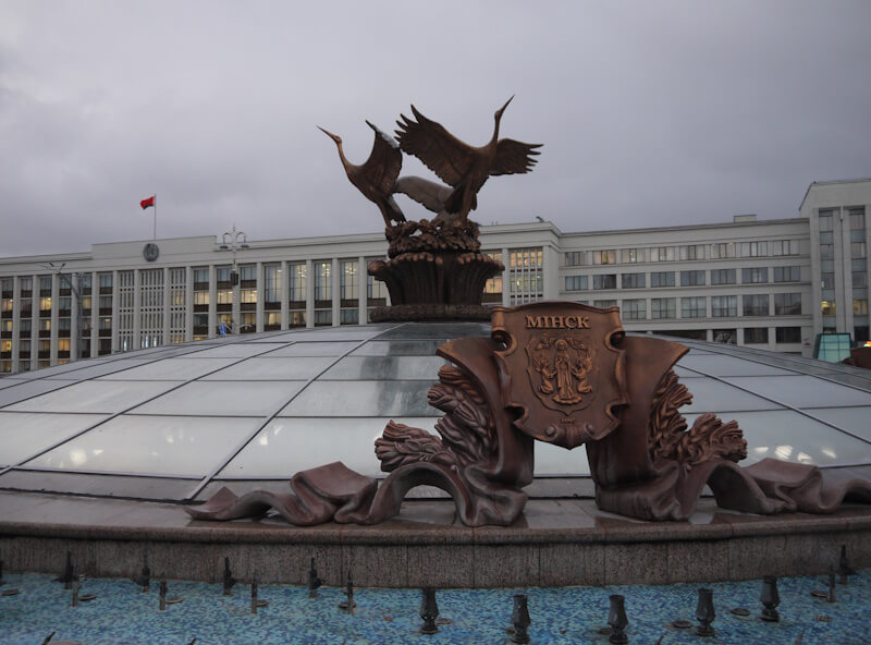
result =
[{"label": "bronze shield plaque lettered \u041c\u0406\u041d\u0421\u041a with figures in relief", "polygon": [[494,307],[503,403],[523,433],[563,448],[598,440],[628,403],[619,309],[577,303]]}]

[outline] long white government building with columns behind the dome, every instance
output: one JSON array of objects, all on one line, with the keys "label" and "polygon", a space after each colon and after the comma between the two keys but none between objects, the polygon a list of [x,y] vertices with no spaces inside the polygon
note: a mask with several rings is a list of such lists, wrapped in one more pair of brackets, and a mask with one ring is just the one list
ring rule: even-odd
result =
[{"label": "long white government building with columns behind the dome", "polygon": [[[481,227],[482,250],[505,265],[484,302],[618,305],[628,331],[807,356],[818,333],[869,338],[870,210],[866,179],[812,183],[786,219],[571,233],[548,221]],[[0,373],[221,333],[366,324],[371,307],[389,304],[366,275],[387,253],[381,232],[232,238],[0,259]]]}]

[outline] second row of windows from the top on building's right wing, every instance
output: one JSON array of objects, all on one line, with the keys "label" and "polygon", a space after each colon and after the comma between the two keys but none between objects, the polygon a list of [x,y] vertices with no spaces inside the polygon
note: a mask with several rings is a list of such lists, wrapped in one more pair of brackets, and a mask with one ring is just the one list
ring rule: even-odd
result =
[{"label": "second row of windows from the top on building's right wing", "polygon": [[[798,282],[801,277],[801,267],[774,267],[771,273],[774,282]],[[680,271],[680,287],[700,287],[706,283],[706,271]],[[711,284],[736,284],[736,269],[711,269]],[[768,267],[748,267],[741,269],[741,283],[756,284],[769,281]],[[588,289],[587,276],[566,276],[566,291],[582,291]],[[675,271],[651,271],[650,287],[663,288],[675,285]],[[647,273],[621,273],[623,289],[645,289]],[[616,289],[617,273],[600,273],[592,277],[593,289]]]}]

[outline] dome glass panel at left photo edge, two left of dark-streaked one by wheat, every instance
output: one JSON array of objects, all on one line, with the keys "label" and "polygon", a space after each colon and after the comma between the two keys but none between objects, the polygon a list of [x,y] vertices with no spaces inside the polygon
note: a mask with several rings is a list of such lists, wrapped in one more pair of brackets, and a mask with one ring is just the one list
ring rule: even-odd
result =
[{"label": "dome glass panel at left photo edge, two left of dark-streaked one by wheat", "polygon": [[[46,382],[46,381],[42,381]],[[52,381],[59,386],[63,381]],[[171,381],[149,382],[144,380],[113,381],[87,380],[22,401],[9,407],[22,412],[91,412],[111,414],[147,401],[176,387]],[[0,392],[0,397],[10,390]]]}]

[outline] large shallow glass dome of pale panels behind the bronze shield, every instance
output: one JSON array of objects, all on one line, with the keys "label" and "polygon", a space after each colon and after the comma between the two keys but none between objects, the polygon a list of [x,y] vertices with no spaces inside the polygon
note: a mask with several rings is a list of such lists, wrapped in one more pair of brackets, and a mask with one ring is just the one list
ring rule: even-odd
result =
[{"label": "large shallow glass dome of pale panels behind the bronze shield", "polygon": [[[427,403],[442,342],[471,322],[275,331],[155,348],[0,379],[0,489],[204,499],[343,461],[382,476],[373,441],[390,419],[433,430]],[[766,457],[871,475],[871,372],[675,339],[703,412],[736,419],[750,464]],[[536,445],[530,489],[591,490],[586,452]],[[556,487],[554,487],[556,486]]]}]

